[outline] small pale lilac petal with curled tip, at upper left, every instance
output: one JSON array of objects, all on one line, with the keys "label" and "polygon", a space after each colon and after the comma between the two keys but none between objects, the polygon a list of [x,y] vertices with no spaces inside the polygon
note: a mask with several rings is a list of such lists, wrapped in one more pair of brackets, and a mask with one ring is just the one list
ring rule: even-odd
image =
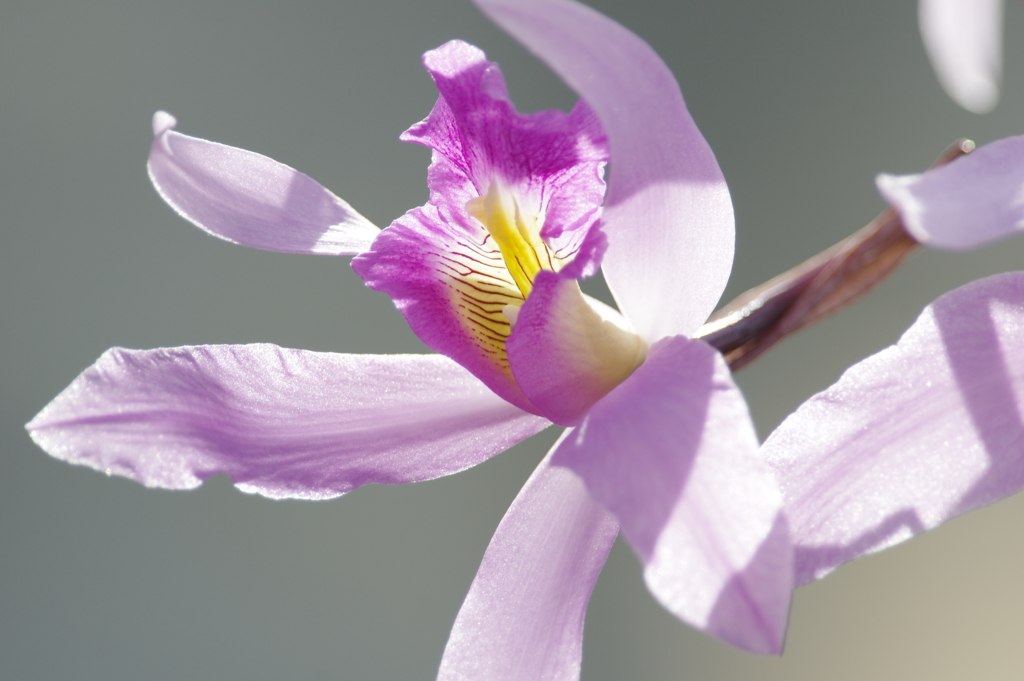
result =
[{"label": "small pale lilac petal with curled tip, at upper left", "polygon": [[355,255],[379,229],[315,180],[265,156],[175,132],[153,117],[150,179],[178,214],[214,237],[267,251]]}]

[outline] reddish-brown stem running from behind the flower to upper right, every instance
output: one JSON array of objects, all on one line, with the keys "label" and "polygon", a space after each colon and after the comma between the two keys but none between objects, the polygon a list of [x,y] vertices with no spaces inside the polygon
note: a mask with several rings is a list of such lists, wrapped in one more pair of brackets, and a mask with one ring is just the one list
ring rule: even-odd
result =
[{"label": "reddish-brown stem running from behind the flower to upper right", "polygon": [[[972,150],[974,142],[958,139],[932,167]],[[783,337],[867,293],[916,245],[890,208],[828,250],[739,295],[712,314],[695,338],[717,348],[735,371]]]}]

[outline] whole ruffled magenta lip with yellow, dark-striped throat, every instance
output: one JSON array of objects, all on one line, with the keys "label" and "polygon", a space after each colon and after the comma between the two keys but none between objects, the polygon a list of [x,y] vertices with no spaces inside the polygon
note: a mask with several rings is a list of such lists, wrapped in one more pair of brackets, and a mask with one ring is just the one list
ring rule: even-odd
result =
[{"label": "whole ruffled magenta lip with yellow, dark-striped throat", "polygon": [[584,102],[568,115],[518,114],[498,67],[466,43],[424,65],[439,97],[403,139],[434,151],[430,202],[352,267],[431,349],[520,409],[575,425],[647,348],[575,283],[605,250],[604,133]]}]

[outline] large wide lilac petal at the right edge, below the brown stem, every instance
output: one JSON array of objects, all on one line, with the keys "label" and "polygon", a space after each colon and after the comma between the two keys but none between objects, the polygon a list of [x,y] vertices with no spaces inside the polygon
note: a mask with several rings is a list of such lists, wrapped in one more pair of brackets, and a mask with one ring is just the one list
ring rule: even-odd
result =
[{"label": "large wide lilac petal at the right edge, below the brown stem", "polygon": [[1024,486],[1024,273],[925,308],[768,437],[797,581]]}]

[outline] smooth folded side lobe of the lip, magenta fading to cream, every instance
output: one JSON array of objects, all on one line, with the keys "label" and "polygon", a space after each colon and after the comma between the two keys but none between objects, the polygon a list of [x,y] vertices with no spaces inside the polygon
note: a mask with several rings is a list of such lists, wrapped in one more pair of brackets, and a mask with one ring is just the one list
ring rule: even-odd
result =
[{"label": "smooth folded side lobe of the lip, magenta fading to cream", "polygon": [[506,345],[516,383],[545,418],[562,426],[575,425],[646,356],[646,343],[599,309],[575,281],[543,271]]}]

